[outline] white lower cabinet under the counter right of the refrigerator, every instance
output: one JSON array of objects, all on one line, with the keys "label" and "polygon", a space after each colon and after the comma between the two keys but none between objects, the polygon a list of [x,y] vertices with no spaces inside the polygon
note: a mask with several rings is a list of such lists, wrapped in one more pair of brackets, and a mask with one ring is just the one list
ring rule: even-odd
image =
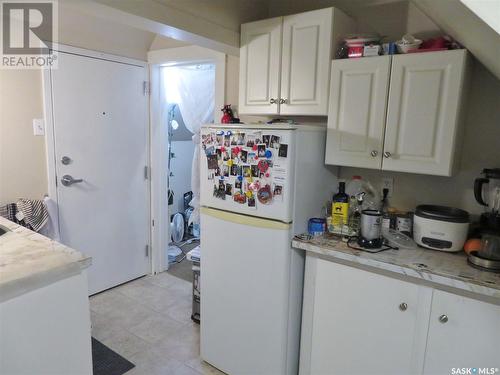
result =
[{"label": "white lower cabinet under the counter right of the refrigerator", "polygon": [[500,367],[499,306],[307,256],[300,374],[462,367]]}]

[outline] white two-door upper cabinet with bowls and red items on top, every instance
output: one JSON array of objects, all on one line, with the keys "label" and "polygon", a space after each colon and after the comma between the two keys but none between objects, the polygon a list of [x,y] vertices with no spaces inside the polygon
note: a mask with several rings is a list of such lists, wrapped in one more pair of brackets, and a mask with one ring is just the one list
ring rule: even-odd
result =
[{"label": "white two-door upper cabinet with bowls and red items on top", "polygon": [[326,163],[451,176],[466,61],[466,50],[334,60]]}]

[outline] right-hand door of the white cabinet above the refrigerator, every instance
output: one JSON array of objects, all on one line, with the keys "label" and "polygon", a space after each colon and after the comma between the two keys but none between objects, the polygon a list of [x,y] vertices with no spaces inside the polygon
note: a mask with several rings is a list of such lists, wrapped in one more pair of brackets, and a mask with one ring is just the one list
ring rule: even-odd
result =
[{"label": "right-hand door of the white cabinet above the refrigerator", "polygon": [[284,17],[282,115],[327,115],[332,17],[332,8]]}]

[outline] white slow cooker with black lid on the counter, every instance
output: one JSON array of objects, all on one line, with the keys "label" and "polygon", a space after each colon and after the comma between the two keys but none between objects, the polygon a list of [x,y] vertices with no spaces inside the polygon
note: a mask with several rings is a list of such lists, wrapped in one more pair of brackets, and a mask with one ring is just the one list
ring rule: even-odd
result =
[{"label": "white slow cooker with black lid on the counter", "polygon": [[432,250],[460,251],[468,231],[467,211],[427,204],[415,209],[413,239],[420,246]]}]

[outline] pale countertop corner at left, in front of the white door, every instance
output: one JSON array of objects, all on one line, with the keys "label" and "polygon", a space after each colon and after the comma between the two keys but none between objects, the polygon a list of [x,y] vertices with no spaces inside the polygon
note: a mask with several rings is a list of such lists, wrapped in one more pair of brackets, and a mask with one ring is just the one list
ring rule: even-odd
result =
[{"label": "pale countertop corner at left, in front of the white door", "polygon": [[92,258],[0,217],[0,302],[76,275]]}]

